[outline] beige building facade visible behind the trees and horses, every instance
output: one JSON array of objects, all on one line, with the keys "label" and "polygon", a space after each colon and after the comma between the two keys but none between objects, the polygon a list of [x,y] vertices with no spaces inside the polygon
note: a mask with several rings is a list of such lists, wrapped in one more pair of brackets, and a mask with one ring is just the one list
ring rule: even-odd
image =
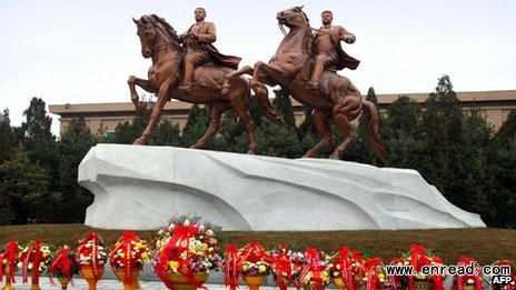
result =
[{"label": "beige building facade visible behind the trees and horses", "polygon": [[[425,107],[429,93],[377,94],[380,113],[385,113],[390,103],[396,101],[399,96],[408,96]],[[516,109],[516,90],[457,92],[457,98],[463,103],[464,110],[469,110],[473,106],[478,107],[495,129],[498,129],[507,119],[510,110]],[[178,123],[179,128],[182,129],[191,106],[181,101],[168,102],[162,110],[161,120]],[[292,109],[296,123],[301,123],[305,119],[305,106],[292,99]],[[64,132],[73,119],[81,117],[91,132],[110,133],[115,132],[119,123],[130,122],[137,116],[131,102],[50,104],[49,111],[60,117],[60,133]]]}]

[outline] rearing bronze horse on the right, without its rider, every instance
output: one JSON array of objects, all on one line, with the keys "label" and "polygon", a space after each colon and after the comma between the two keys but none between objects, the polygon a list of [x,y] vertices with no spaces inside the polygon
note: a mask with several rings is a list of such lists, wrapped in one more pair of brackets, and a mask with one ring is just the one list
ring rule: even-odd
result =
[{"label": "rearing bronze horse on the right, without its rider", "polygon": [[330,123],[335,123],[344,134],[344,141],[337,146],[330,158],[340,159],[344,151],[355,138],[351,121],[360,112],[367,117],[367,134],[369,144],[375,154],[387,162],[388,152],[383,147],[378,136],[378,112],[374,103],[364,100],[358,89],[349,79],[335,71],[325,71],[319,90],[306,89],[310,79],[312,60],[312,28],[302,7],[295,7],[277,13],[278,23],[289,28],[288,33],[280,42],[276,54],[269,63],[258,61],[255,68],[244,67],[227,78],[225,89],[241,74],[252,74],[250,86],[261,99],[267,99],[268,91],[262,83],[280,86],[284,93],[290,94],[300,103],[314,108],[314,123],[322,140],[308,150],[305,157],[315,157],[321,149],[331,144],[334,137],[330,133]]}]

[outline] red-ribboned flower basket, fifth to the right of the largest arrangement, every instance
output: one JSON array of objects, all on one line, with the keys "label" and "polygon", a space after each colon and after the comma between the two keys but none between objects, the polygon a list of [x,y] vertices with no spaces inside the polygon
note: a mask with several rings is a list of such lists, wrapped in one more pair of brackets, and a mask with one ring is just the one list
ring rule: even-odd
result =
[{"label": "red-ribboned flower basket, fifth to the right of the largest arrangement", "polygon": [[328,271],[339,290],[359,289],[366,272],[360,252],[351,251],[348,247],[343,247],[331,257]]}]

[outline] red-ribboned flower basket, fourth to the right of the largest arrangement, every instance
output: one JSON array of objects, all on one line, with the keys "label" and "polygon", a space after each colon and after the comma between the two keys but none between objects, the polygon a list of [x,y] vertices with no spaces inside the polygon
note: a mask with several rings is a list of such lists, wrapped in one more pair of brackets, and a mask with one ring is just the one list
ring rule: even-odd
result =
[{"label": "red-ribboned flower basket, fourth to the right of the largest arrangement", "polygon": [[321,290],[331,282],[327,264],[329,256],[322,251],[307,248],[305,251],[305,263],[299,273],[301,287],[307,290]]}]

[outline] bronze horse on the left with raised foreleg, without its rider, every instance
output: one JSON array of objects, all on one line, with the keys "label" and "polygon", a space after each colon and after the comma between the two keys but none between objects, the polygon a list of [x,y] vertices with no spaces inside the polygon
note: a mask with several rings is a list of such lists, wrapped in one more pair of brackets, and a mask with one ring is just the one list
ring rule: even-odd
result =
[{"label": "bronze horse on the left with raised foreleg, without its rider", "polygon": [[[139,20],[132,19],[137,24],[137,34],[141,42],[141,54],[151,58],[148,80],[130,76],[128,79],[131,101],[139,111],[146,111],[147,106],[139,100],[135,86],[156,93],[157,102],[152,109],[149,123],[141,137],[135,140],[135,144],[145,144],[151,137],[161,117],[161,110],[170,99],[177,99],[190,103],[205,103],[208,108],[210,124],[205,134],[191,147],[202,148],[214,137],[220,127],[222,113],[232,108],[246,127],[249,139],[248,153],[255,153],[256,142],[254,123],[249,113],[250,88],[242,77],[232,78],[230,89],[221,93],[222,83],[227,74],[234,69],[208,63],[196,69],[196,80],[191,93],[186,94],[177,90],[182,78],[183,49],[179,44],[176,30],[165,19],[156,14],[142,16]],[[261,112],[272,122],[284,124],[282,119],[272,110],[272,104],[267,97],[258,99]]]}]

